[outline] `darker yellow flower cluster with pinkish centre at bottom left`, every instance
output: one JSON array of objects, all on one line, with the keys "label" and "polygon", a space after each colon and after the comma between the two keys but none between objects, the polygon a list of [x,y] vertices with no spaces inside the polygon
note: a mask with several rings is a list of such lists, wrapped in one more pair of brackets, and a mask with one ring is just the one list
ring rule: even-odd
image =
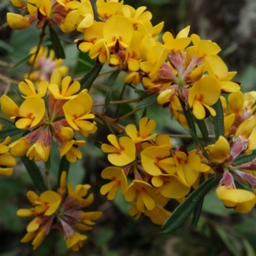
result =
[{"label": "darker yellow flower cluster with pinkish centre at bottom left", "polygon": [[[64,236],[67,248],[75,252],[82,247],[82,241],[86,236],[76,230],[87,231],[92,229],[102,212],[84,212],[82,209],[92,204],[93,193],[88,195],[90,185],[79,184],[72,189],[72,184],[66,189],[67,173],[61,174],[60,188],[58,192],[47,190],[40,196],[33,191],[28,191],[27,197],[33,205],[31,209],[19,209],[17,216],[34,217],[27,226],[27,234],[22,238],[22,243],[31,240],[35,250],[44,241],[51,228],[60,230]],[[87,196],[86,198],[84,198]]]}]

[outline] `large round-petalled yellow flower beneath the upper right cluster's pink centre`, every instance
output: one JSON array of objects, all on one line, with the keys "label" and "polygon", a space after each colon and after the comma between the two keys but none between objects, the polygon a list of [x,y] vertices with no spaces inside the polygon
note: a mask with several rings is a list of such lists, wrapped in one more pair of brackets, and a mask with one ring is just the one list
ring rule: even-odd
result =
[{"label": "large round-petalled yellow flower beneath the upper right cluster's pink centre", "polygon": [[204,76],[193,85],[188,95],[188,104],[193,108],[193,115],[203,119],[209,114],[216,116],[216,111],[211,108],[220,98],[220,81],[214,77]]}]

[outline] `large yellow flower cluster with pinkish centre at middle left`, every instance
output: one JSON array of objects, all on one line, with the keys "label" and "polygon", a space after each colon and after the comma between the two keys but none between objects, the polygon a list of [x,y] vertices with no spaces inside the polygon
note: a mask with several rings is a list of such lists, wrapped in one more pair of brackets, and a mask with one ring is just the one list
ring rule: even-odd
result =
[{"label": "large yellow flower cluster with pinkish centre at middle left", "polygon": [[77,146],[83,146],[85,141],[75,140],[74,131],[88,136],[97,127],[90,113],[93,100],[87,90],[79,92],[80,87],[69,76],[61,81],[61,70],[56,69],[50,83],[40,81],[37,90],[28,79],[19,83],[24,98],[20,106],[6,95],[1,97],[3,113],[14,119],[17,128],[26,129],[24,136],[9,145],[13,156],[26,154],[30,160],[46,162],[55,138],[60,157],[66,156],[70,163],[81,159]]}]

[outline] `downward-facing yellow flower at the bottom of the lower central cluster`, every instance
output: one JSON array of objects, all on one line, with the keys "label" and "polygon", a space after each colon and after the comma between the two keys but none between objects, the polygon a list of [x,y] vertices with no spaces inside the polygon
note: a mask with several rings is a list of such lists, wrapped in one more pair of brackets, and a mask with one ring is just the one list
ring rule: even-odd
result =
[{"label": "downward-facing yellow flower at the bottom of the lower central cluster", "polygon": [[146,182],[133,180],[132,184],[127,188],[125,200],[132,202],[136,197],[136,207],[140,212],[152,210],[156,206],[154,201],[155,189]]}]

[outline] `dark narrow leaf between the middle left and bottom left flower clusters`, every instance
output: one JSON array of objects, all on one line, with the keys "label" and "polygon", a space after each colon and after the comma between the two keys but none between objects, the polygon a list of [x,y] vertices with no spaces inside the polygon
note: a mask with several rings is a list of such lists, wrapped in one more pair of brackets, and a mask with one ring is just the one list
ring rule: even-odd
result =
[{"label": "dark narrow leaf between the middle left and bottom left flower clusters", "polygon": [[33,160],[29,160],[26,156],[22,156],[21,160],[22,163],[24,163],[26,169],[28,170],[28,174],[31,177],[31,180],[35,184],[36,188],[38,188],[41,193],[47,190],[42,173],[40,172],[40,169],[35,164],[35,162]]}]

